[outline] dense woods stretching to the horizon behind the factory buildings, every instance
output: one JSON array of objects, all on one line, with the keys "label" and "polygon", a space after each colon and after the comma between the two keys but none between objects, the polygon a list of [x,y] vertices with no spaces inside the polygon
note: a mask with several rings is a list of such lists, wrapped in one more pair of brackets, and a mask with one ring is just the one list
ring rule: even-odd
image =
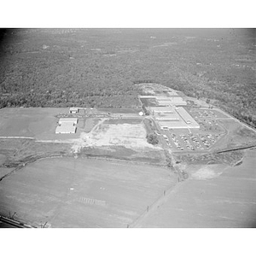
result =
[{"label": "dense woods stretching to the horizon behind the factory buildings", "polygon": [[2,31],[0,108],[138,108],[154,82],[256,126],[255,45],[245,29]]}]

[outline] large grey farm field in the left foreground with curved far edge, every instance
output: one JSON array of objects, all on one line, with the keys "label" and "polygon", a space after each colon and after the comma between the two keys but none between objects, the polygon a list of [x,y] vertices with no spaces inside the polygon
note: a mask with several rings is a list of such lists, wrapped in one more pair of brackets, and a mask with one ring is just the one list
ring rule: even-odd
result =
[{"label": "large grey farm field in the left foreground with curved far edge", "polygon": [[38,227],[127,227],[176,182],[154,166],[40,160],[1,181],[0,214]]}]

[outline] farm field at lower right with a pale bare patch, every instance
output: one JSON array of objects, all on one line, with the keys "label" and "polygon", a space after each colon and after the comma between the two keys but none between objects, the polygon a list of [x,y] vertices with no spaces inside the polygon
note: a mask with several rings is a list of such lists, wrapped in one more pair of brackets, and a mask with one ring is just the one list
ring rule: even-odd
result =
[{"label": "farm field at lower right with a pale bare patch", "polygon": [[178,183],[137,227],[256,227],[256,150],[239,166],[189,166]]}]

